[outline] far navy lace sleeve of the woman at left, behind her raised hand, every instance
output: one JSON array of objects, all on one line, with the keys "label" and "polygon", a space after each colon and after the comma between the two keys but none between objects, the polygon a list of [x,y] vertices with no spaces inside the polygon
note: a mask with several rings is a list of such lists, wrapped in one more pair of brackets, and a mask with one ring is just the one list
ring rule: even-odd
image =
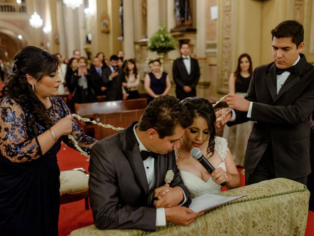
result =
[{"label": "far navy lace sleeve of the woman at left, behind her raised hand", "polygon": [[[67,115],[71,114],[69,107],[64,103],[62,98],[60,97],[54,97],[54,98],[58,100],[58,102],[60,103],[60,107],[64,109],[63,117],[66,117]],[[94,144],[97,142],[97,140],[86,135],[79,127],[78,122],[75,119],[73,120],[74,120],[74,124],[73,124],[73,129],[72,129],[73,131],[71,135],[78,142],[78,146],[82,148],[84,151],[86,151],[88,154],[90,154],[90,150],[94,146]],[[76,149],[73,142],[67,136],[64,136],[63,142],[66,145],[68,145],[70,148]]]}]

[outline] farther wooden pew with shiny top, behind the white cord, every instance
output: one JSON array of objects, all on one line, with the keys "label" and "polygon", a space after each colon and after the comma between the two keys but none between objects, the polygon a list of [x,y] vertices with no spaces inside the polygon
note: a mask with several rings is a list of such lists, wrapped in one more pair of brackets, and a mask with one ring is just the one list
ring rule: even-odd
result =
[{"label": "farther wooden pew with shiny top, behind the white cord", "polygon": [[[75,114],[83,118],[94,118],[94,114],[110,114],[120,111],[145,109],[147,106],[146,98],[92,102],[92,103],[76,103],[74,104]],[[86,132],[94,132],[93,124],[78,121],[79,126]]]}]

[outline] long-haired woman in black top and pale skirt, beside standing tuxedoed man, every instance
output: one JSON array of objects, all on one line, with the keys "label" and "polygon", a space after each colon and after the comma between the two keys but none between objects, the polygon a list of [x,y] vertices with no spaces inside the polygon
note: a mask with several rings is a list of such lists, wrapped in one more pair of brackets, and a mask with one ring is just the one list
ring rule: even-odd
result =
[{"label": "long-haired woman in black top and pale skirt, beside standing tuxedoed man", "polygon": [[[252,73],[251,57],[246,53],[240,55],[237,60],[236,70],[230,75],[229,92],[245,97],[250,85]],[[224,127],[223,137],[228,141],[228,147],[235,160],[236,166],[243,167],[247,140],[249,139],[252,127],[252,121],[232,127],[228,127],[227,125]]]}]

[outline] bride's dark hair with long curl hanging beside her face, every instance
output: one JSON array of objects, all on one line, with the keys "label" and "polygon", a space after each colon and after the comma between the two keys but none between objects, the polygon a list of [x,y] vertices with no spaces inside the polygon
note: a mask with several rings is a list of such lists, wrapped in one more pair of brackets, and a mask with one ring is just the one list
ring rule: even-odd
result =
[{"label": "bride's dark hair with long curl hanging beside her face", "polygon": [[202,97],[188,97],[182,101],[183,105],[190,112],[193,119],[203,117],[209,129],[209,142],[207,147],[207,158],[214,154],[216,136],[216,115],[210,102]]}]

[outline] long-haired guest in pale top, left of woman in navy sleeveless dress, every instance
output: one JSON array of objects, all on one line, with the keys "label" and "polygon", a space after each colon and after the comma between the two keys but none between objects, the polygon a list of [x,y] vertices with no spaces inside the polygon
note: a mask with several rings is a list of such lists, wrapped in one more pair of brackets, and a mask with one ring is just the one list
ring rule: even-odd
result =
[{"label": "long-haired guest in pale top, left of woman in navy sleeveless dress", "polygon": [[137,71],[135,61],[133,59],[128,60],[124,73],[126,76],[126,82],[123,82],[122,86],[124,87],[126,92],[129,94],[127,99],[139,98],[138,86],[139,86],[140,76]]}]

